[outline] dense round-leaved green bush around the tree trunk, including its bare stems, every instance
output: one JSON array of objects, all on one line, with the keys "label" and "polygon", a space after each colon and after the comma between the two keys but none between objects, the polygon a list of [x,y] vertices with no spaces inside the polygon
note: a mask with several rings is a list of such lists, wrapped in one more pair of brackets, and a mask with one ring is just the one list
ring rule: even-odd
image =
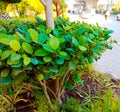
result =
[{"label": "dense round-leaved green bush around the tree trunk, including its bare stems", "polygon": [[36,20],[38,24],[30,27],[18,23],[11,34],[10,28],[0,29],[0,83],[12,86],[36,81],[50,106],[51,98],[61,104],[64,88],[74,87],[68,80],[83,85],[79,71],[87,72],[89,64],[112,48],[113,31],[63,18],[55,20],[52,30],[40,18]]}]

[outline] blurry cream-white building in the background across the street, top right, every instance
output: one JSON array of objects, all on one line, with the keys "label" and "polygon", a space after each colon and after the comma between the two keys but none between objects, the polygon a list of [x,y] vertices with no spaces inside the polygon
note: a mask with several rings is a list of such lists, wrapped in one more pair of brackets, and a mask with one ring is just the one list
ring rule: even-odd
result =
[{"label": "blurry cream-white building in the background across the street, top right", "polygon": [[112,10],[114,7],[120,10],[120,0],[66,0],[66,3],[68,10],[73,12],[77,12],[77,10],[103,12]]}]

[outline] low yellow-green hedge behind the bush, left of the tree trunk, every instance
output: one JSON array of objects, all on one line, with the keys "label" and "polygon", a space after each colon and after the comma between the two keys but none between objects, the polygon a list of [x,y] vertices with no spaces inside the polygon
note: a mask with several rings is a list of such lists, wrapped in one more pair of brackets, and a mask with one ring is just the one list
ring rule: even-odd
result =
[{"label": "low yellow-green hedge behind the bush, left of the tree trunk", "polygon": [[[27,28],[34,28],[37,22],[33,17],[11,18],[9,20],[0,20],[0,33],[14,34],[18,29],[23,33]],[[21,30],[20,30],[21,29]]]}]

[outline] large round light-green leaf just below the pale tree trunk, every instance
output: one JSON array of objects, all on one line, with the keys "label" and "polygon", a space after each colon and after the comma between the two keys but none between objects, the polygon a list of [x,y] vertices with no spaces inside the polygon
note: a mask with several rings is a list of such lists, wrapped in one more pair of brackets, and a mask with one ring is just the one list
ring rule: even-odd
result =
[{"label": "large round light-green leaf just below the pale tree trunk", "polygon": [[52,49],[56,50],[59,47],[60,41],[57,37],[52,36],[49,40],[49,45]]}]

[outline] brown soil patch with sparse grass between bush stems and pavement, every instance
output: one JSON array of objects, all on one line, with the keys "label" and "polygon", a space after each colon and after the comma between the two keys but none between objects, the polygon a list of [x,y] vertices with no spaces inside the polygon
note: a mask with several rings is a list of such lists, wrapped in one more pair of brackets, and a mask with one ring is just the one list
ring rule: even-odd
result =
[{"label": "brown soil patch with sparse grass between bush stems and pavement", "polygon": [[98,80],[99,76],[95,78],[94,76],[87,74],[83,75],[81,79],[83,80],[84,86],[78,86],[73,90],[66,89],[66,97],[73,97],[80,102],[83,102],[86,97],[94,99],[98,94],[103,95],[105,91],[111,87],[117,97],[120,98],[120,80],[113,78],[110,78],[109,81],[106,81],[105,79]]}]

